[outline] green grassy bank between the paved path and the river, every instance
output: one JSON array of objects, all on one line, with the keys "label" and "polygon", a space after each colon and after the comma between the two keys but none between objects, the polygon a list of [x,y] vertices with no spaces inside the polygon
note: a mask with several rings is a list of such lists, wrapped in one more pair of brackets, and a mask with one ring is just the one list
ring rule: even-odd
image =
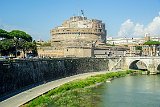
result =
[{"label": "green grassy bank between the paved path and the river", "polygon": [[[139,71],[126,70],[75,80],[33,99],[22,107],[53,107],[53,105],[57,107],[94,107],[96,104],[93,102],[98,101],[99,97],[92,92],[92,88],[86,87],[105,82],[109,78],[124,77],[135,72]],[[96,100],[93,101],[93,99]]]}]

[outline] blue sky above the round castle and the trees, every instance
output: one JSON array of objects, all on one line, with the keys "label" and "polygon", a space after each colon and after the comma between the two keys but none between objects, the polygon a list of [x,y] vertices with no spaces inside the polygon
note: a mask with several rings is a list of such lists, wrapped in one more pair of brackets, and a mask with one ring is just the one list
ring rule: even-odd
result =
[{"label": "blue sky above the round castle and the trees", "polygon": [[[159,17],[160,0],[1,0],[0,28],[20,29],[34,39],[48,40],[52,28],[78,15],[80,10],[84,10],[88,18],[102,20],[108,36],[123,36],[123,32],[130,36],[132,34],[126,33],[130,31],[125,30],[128,24],[132,26],[129,30],[137,29],[138,24],[140,30],[150,31],[146,29]],[[159,23],[159,19],[156,20],[155,23]],[[158,27],[155,29],[159,30]]]}]

